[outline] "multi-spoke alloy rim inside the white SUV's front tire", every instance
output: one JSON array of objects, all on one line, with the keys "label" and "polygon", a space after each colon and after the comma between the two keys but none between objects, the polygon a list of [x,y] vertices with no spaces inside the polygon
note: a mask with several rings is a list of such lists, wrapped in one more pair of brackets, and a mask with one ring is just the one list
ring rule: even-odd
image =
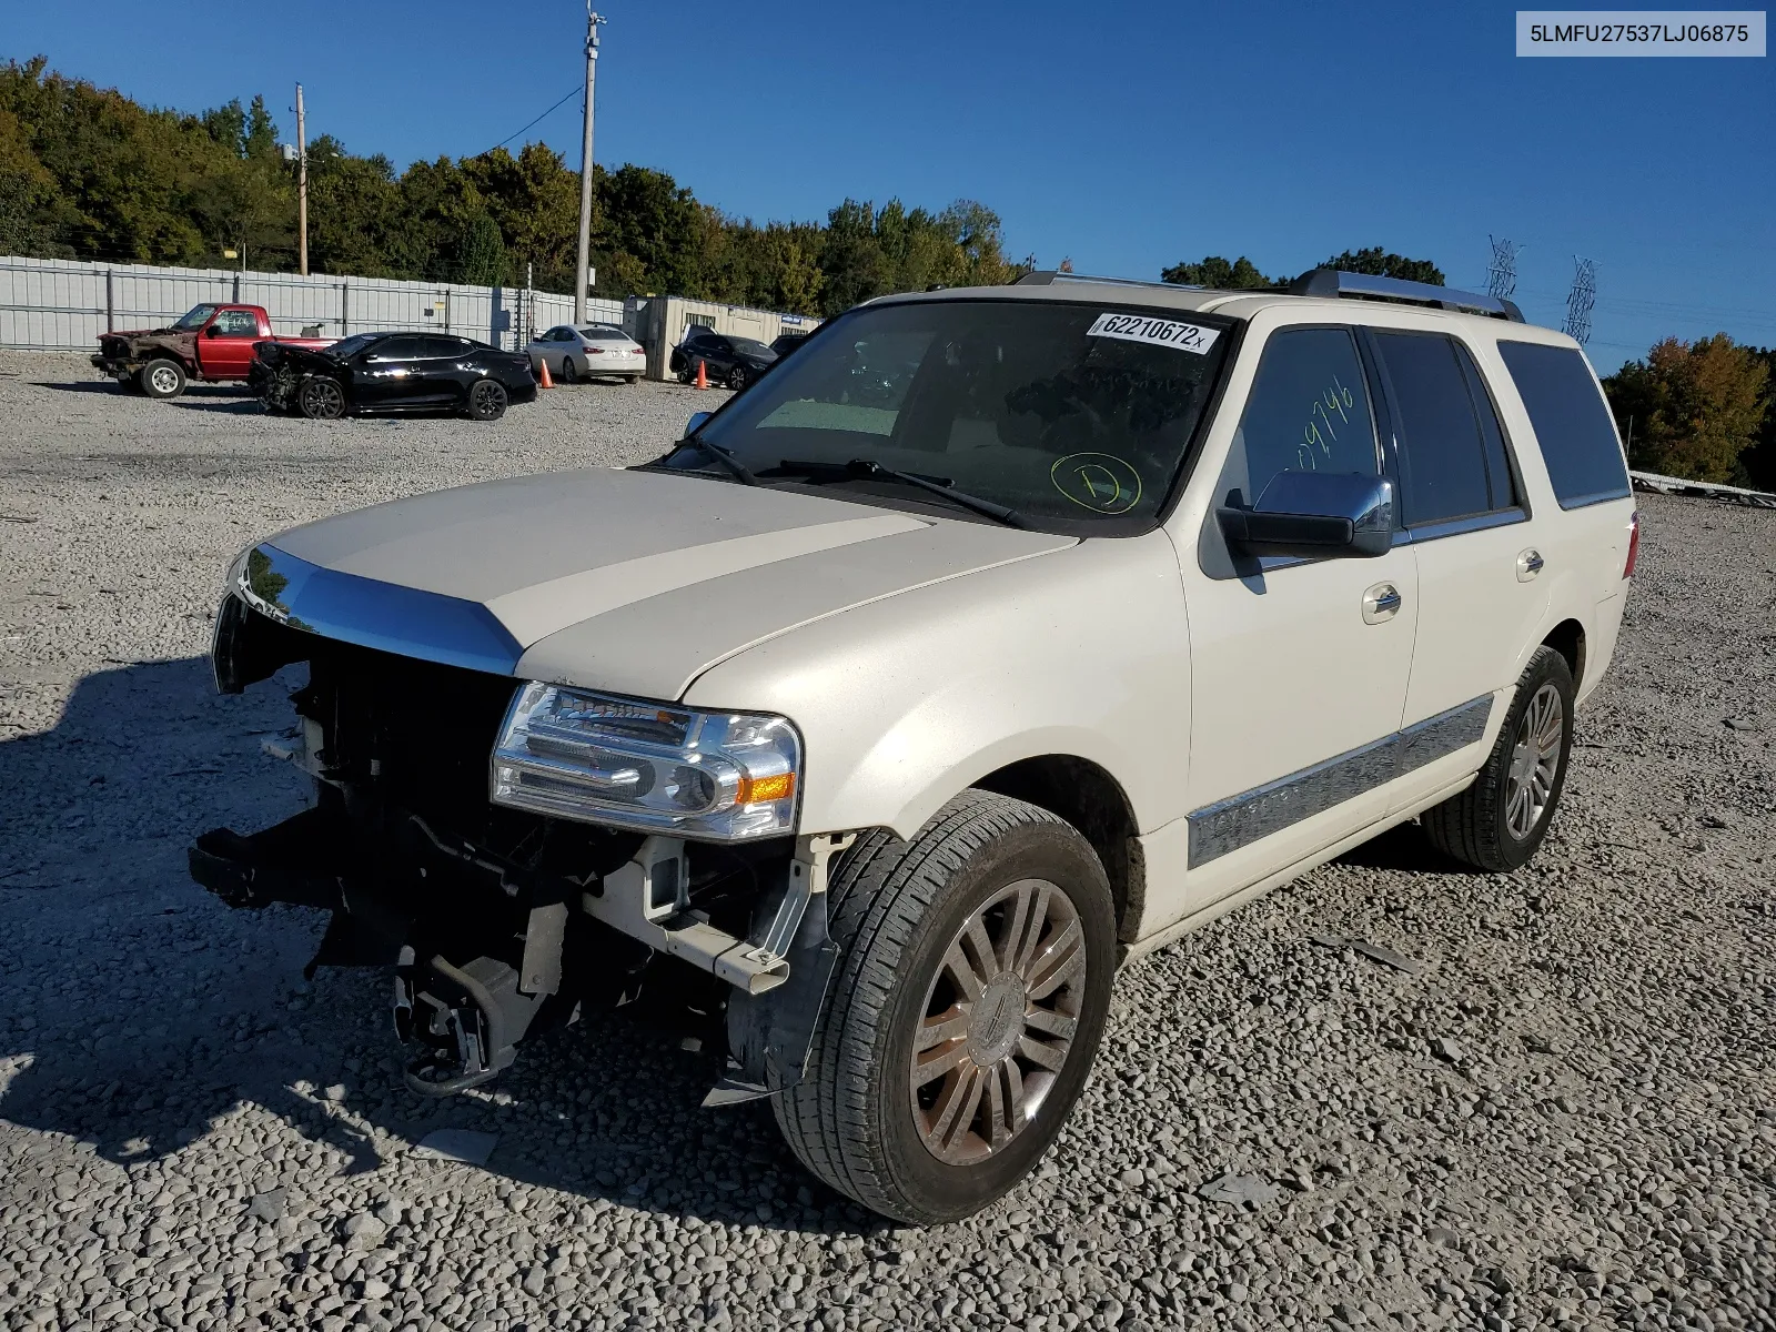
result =
[{"label": "multi-spoke alloy rim inside the white SUV's front tire", "polygon": [[913,1035],[913,1124],[947,1165],[991,1156],[1037,1117],[1073,1051],[1085,931],[1046,879],[1007,884],[950,940]]}]

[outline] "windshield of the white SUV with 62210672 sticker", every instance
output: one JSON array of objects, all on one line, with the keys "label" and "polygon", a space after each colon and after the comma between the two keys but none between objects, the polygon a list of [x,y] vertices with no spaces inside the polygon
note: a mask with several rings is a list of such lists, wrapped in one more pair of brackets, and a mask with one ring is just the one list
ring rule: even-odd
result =
[{"label": "windshield of the white SUV with 62210672 sticker", "polygon": [[[1215,385],[1229,327],[1177,311],[1032,300],[865,305],[696,437],[767,481],[812,474],[790,462],[867,458],[1037,526],[1146,531]],[[680,449],[668,464],[707,467],[709,458]],[[943,506],[872,476],[821,485]]]}]

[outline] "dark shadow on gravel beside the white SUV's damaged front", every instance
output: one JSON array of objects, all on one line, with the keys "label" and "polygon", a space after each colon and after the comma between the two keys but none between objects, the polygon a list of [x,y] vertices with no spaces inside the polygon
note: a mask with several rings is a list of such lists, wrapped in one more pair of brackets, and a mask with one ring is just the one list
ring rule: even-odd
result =
[{"label": "dark shadow on gravel beside the white SUV's damaged front", "polygon": [[[300,808],[300,774],[259,751],[297,684],[300,668],[229,698],[204,659],[131,664],[82,678],[53,730],[0,742],[0,789],[18,792],[0,808],[0,1121],[133,1163],[227,1137],[258,1106],[346,1174],[389,1167],[432,1130],[472,1128],[499,1137],[490,1174],[588,1201],[806,1231],[870,1224],[799,1167],[767,1105],[700,1108],[719,1032],[646,996],[527,1043],[497,1083],[448,1101],[407,1090],[389,975],[304,982],[323,913],[231,911],[185,872],[199,831]],[[307,1192],[316,1167],[298,1154],[245,1172]],[[439,1169],[440,1193],[460,1188],[451,1176]],[[401,1188],[421,1188],[412,1170]]]}]

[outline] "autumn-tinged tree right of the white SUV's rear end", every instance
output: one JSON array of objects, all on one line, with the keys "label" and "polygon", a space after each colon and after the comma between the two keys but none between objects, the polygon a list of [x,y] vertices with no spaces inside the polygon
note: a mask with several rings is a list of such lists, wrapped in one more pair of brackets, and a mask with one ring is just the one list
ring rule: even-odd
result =
[{"label": "autumn-tinged tree right of the white SUV's rear end", "polygon": [[1742,478],[1769,408],[1769,375],[1765,359],[1726,334],[1657,343],[1604,380],[1616,428],[1630,439],[1629,465],[1693,481]]}]

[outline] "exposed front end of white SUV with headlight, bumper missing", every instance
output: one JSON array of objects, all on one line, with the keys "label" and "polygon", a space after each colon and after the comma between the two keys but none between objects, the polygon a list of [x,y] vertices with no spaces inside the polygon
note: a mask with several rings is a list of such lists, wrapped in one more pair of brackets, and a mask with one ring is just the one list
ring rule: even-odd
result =
[{"label": "exposed front end of white SUV with headlight, bumper missing", "polygon": [[[799,1009],[836,959],[826,867],[849,838],[785,835],[799,764],[787,723],[520,684],[256,614],[218,629],[222,687],[304,661],[281,751],[314,778],[313,806],[252,835],[204,833],[190,868],[231,906],[329,911],[311,973],[392,968],[408,1085],[472,1087],[524,1039],[629,1003],[650,977],[682,1000],[698,973],[705,1011],[746,998],[737,1044],[751,1057],[730,1094],[799,1080],[805,1048],[783,1032],[810,1027]],[[520,764],[563,771],[559,789],[501,799]],[[684,769],[705,785],[686,794]]]}]

